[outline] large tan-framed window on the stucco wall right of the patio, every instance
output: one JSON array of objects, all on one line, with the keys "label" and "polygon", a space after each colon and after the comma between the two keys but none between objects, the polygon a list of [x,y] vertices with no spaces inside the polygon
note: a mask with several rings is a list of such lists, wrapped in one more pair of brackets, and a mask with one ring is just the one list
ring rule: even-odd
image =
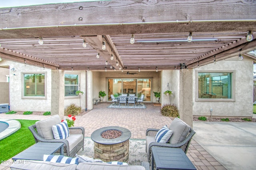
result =
[{"label": "large tan-framed window on the stucco wall right of the patio", "polygon": [[234,102],[234,70],[196,71],[197,102]]}]

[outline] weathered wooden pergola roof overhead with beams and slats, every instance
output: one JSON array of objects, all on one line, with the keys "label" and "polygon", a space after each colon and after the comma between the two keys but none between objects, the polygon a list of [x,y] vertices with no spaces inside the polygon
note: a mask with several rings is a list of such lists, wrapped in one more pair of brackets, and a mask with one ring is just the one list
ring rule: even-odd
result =
[{"label": "weathered wooden pergola roof overhead with beams and slats", "polygon": [[[120,0],[0,8],[0,57],[62,70],[110,70],[110,64],[116,70],[120,66],[172,70],[181,63],[194,68],[212,63],[214,56],[218,62],[256,49],[255,11],[255,1],[234,0]],[[246,41],[248,31],[254,40]],[[190,32],[192,42],[186,41]],[[38,44],[39,37],[43,45]]]}]

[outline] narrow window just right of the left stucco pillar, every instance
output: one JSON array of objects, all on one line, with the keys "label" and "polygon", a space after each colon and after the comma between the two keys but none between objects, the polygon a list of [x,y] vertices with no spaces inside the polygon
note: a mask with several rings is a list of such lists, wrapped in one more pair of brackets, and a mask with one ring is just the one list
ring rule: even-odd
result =
[{"label": "narrow window just right of the left stucco pillar", "polygon": [[76,91],[79,90],[79,84],[80,84],[80,74],[76,73],[66,73],[65,74],[65,97],[78,97],[76,95]]}]

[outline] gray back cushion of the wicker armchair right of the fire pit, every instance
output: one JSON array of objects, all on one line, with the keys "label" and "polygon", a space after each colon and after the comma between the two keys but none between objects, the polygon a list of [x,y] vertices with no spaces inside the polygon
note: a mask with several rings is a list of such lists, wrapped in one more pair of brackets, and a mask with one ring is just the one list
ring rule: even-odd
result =
[{"label": "gray back cushion of the wicker armchair right of the fire pit", "polygon": [[177,144],[179,142],[182,142],[186,138],[188,132],[190,131],[190,126],[187,125],[184,121],[180,120],[178,117],[176,117],[172,121],[169,129],[173,131],[169,143]]}]

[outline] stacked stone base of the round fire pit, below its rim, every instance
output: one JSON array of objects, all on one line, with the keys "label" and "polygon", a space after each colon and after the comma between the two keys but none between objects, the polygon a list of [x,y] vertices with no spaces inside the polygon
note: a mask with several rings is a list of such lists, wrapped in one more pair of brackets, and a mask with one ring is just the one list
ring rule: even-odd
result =
[{"label": "stacked stone base of the round fire pit, below its rim", "polygon": [[100,159],[104,162],[129,160],[129,139],[122,143],[105,145],[94,142],[94,159]]}]

